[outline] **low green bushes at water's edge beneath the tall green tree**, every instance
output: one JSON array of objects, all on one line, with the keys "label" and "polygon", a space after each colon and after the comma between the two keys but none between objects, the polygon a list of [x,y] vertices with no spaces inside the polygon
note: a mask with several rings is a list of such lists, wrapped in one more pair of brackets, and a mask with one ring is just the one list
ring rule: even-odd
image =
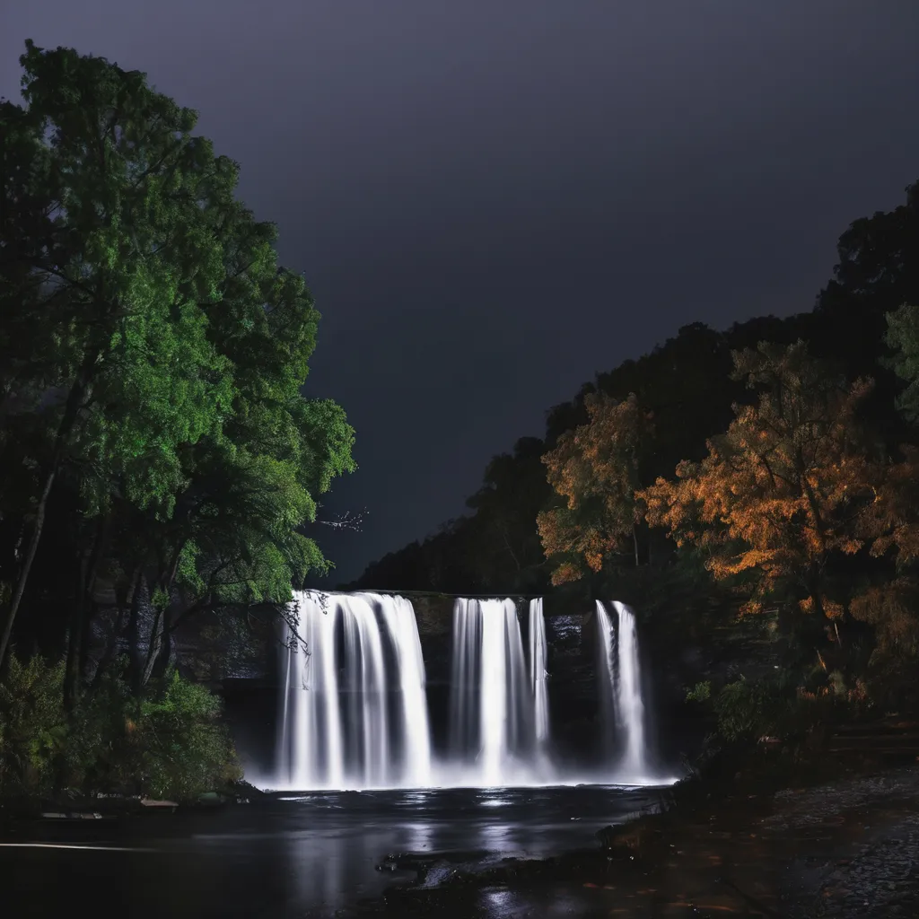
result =
[{"label": "low green bushes at water's edge beneath the tall green tree", "polygon": [[81,791],[194,798],[241,772],[221,701],[173,672],[130,693],[119,673],[87,690],[68,716],[64,664],[12,656],[0,682],[0,793]]}]

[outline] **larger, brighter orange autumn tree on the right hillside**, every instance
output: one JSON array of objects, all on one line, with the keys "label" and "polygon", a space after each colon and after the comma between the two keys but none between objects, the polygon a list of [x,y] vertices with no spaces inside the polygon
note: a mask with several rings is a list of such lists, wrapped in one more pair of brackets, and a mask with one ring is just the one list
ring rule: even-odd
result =
[{"label": "larger, brighter orange autumn tree on the right hillside", "polygon": [[675,481],[641,493],[648,521],[703,550],[716,579],[747,579],[745,611],[790,588],[803,612],[838,617],[844,598],[832,595],[828,566],[868,544],[860,519],[879,480],[859,422],[871,382],[846,386],[802,341],[762,343],[733,360],[734,378],[761,390],[758,402],[734,406],[705,459],[681,462]]}]

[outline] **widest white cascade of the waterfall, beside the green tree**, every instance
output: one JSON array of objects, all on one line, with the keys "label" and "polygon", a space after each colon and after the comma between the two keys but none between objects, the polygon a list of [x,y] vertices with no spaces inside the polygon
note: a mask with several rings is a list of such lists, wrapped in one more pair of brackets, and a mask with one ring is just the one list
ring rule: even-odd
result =
[{"label": "widest white cascade of the waterfall, beside the green tree", "polygon": [[[425,665],[402,597],[297,595],[285,626],[280,784],[296,789],[426,785]],[[393,698],[395,697],[395,698]]]}]

